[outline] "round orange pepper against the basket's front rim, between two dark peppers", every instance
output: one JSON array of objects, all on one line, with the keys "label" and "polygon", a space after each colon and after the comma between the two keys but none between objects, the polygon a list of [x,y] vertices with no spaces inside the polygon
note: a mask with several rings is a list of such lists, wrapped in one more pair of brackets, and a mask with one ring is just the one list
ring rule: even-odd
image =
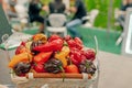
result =
[{"label": "round orange pepper against the basket's front rim, between two dark peppers", "polygon": [[74,64],[66,66],[65,72],[72,74],[79,74],[78,67]]}]

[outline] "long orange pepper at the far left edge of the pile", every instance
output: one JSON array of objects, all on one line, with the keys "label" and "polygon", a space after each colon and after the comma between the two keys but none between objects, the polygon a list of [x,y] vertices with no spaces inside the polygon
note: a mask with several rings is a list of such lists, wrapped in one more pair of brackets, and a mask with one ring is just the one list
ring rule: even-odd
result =
[{"label": "long orange pepper at the far left edge of the pile", "polygon": [[13,68],[20,62],[32,62],[32,55],[30,53],[14,55],[9,63],[9,67]]}]

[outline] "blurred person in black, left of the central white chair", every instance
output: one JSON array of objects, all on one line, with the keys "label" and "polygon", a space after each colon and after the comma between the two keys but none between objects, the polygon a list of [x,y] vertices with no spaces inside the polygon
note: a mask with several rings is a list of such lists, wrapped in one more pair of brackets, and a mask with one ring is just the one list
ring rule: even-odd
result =
[{"label": "blurred person in black, left of the central white chair", "polygon": [[40,0],[31,0],[30,6],[29,6],[29,18],[30,22],[40,22],[40,33],[44,33],[44,18],[40,15],[40,12],[44,10],[42,7]]}]

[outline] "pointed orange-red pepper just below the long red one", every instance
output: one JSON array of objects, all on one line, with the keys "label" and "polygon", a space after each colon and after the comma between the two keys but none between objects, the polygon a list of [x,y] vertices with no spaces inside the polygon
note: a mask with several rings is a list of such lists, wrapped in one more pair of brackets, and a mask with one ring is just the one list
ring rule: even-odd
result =
[{"label": "pointed orange-red pepper just below the long red one", "polygon": [[44,64],[45,62],[48,61],[53,52],[41,52],[37,55],[34,56],[33,62],[34,63],[42,63]]}]

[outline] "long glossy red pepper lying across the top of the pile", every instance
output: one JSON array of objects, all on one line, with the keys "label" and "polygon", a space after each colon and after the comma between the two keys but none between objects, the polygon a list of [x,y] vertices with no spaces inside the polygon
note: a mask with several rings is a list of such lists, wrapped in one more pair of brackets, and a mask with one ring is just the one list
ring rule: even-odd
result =
[{"label": "long glossy red pepper lying across the top of the pile", "polygon": [[52,42],[47,42],[46,44],[35,46],[33,50],[37,52],[56,52],[61,51],[63,47],[63,40],[54,40]]}]

